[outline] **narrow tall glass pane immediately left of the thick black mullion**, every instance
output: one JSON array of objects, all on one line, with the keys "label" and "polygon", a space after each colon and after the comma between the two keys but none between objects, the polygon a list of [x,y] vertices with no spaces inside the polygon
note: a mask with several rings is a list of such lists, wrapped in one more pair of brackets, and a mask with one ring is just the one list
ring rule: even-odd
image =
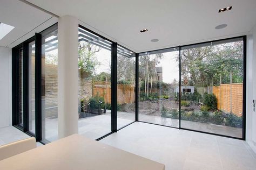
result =
[{"label": "narrow tall glass pane immediately left of the thick black mullion", "polygon": [[29,43],[29,131],[35,134],[35,41]]}]

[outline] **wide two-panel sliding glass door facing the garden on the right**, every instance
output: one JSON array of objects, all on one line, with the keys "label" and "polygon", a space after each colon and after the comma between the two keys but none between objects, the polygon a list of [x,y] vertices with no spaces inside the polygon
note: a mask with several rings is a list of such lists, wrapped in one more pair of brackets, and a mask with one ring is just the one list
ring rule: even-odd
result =
[{"label": "wide two-panel sliding glass door facing the garden on the right", "polygon": [[140,53],[139,121],[244,139],[245,41]]}]

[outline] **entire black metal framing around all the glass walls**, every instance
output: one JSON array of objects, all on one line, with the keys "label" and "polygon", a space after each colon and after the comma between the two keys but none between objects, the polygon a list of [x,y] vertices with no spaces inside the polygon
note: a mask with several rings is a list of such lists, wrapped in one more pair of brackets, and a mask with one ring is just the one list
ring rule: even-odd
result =
[{"label": "entire black metal framing around all the glass walls", "polygon": [[[57,24],[57,23],[56,23]],[[52,26],[56,25],[53,24]],[[47,29],[51,28],[52,26],[48,27]],[[243,40],[243,50],[244,50],[244,80],[243,80],[243,114],[242,114],[242,138],[237,138],[237,137],[230,137],[230,136],[225,136],[225,135],[221,135],[221,134],[215,134],[215,133],[208,133],[208,132],[202,132],[202,131],[197,131],[197,132],[202,132],[202,133],[207,133],[207,134],[213,134],[213,135],[217,135],[217,136],[223,136],[223,137],[228,137],[228,138],[235,138],[235,139],[241,139],[241,140],[245,140],[245,132],[246,132],[246,36],[239,36],[239,37],[231,37],[231,38],[227,38],[227,39],[218,39],[218,40],[213,40],[213,41],[207,41],[207,42],[199,42],[196,44],[189,44],[189,45],[183,45],[183,46],[175,46],[175,47],[169,47],[169,48],[163,48],[163,49],[157,49],[154,51],[146,51],[146,52],[139,52],[139,53],[135,53],[135,60],[136,60],[136,66],[135,66],[135,73],[136,73],[136,86],[135,86],[135,121],[127,124],[125,126],[123,126],[122,128],[117,129],[117,45],[118,46],[122,46],[120,44],[118,44],[117,42],[114,42],[108,38],[105,38],[103,36],[101,36],[100,34],[91,31],[89,29],[87,29],[86,27],[82,26],[82,25],[78,25],[78,27],[81,27],[82,29],[89,31],[90,33],[95,34],[96,36],[99,36],[107,41],[112,42],[112,47],[111,47],[111,107],[112,107],[112,111],[111,111],[111,132],[107,133],[106,135],[96,139],[96,140],[100,140],[105,138],[106,136],[109,136],[110,134],[117,132],[123,128],[125,128],[126,126],[131,125],[134,122],[141,122],[139,121],[139,55],[142,53],[154,53],[154,52],[159,52],[159,51],[168,51],[171,48],[177,48],[179,50],[179,95],[181,95],[181,55],[180,55],[180,49],[186,46],[192,46],[192,45],[200,45],[200,44],[205,44],[205,43],[214,43],[214,42],[219,42],[219,41],[225,41],[225,40],[232,40],[232,39],[236,39],[236,38],[242,38]],[[45,29],[45,30],[47,30]],[[44,30],[44,31],[45,31]],[[42,31],[43,32],[43,31]],[[41,33],[42,33],[41,32]],[[48,141],[42,141],[42,34],[41,33],[36,33],[35,36],[31,37],[30,39],[22,42],[21,44],[17,45],[16,47],[12,48],[12,125],[15,126],[16,128],[18,128],[19,130],[22,130],[23,132],[25,132],[26,134],[29,134],[30,136],[34,136],[36,137],[37,141],[40,141],[41,143],[45,144],[48,143]],[[18,70],[18,65],[19,65],[19,54],[18,54],[18,50],[20,48],[23,47],[23,60],[25,62],[23,62],[23,74],[24,73],[28,73],[28,44],[29,42],[35,40],[35,44],[36,44],[36,63],[35,63],[35,67],[36,67],[36,72],[35,72],[35,103],[36,103],[36,134],[33,134],[31,132],[29,132],[29,128],[28,128],[28,113],[24,111],[23,114],[23,126],[18,124],[18,115],[19,115],[19,106],[18,106],[18,102],[19,102],[19,86],[17,86],[18,83],[18,76],[19,76],[19,70]],[[25,48],[24,48],[25,47]],[[123,46],[122,46],[123,47]],[[126,47],[124,47],[126,48]],[[25,50],[24,50],[25,49]],[[126,48],[129,49],[129,48]],[[129,49],[130,51],[132,51],[131,49]],[[133,52],[133,51],[132,51]],[[25,55],[24,55],[25,54]],[[25,57],[26,56],[26,57]],[[38,69],[39,68],[39,69]],[[23,83],[23,90],[25,90],[23,93],[23,100],[25,102],[23,102],[23,108],[24,110],[28,110],[28,95],[26,95],[28,93],[28,74],[24,74],[25,76],[23,76],[23,80],[25,83]],[[183,129],[180,126],[180,120],[181,120],[181,105],[180,105],[180,100],[181,100],[181,96],[179,96],[179,128],[178,129]],[[147,122],[146,122],[147,123]],[[153,124],[153,123],[150,123]],[[170,127],[170,126],[168,126]],[[170,128],[174,128],[174,127],[170,127]],[[190,130],[190,129],[184,129],[184,130]],[[191,131],[195,131],[195,130],[191,130]]]}]

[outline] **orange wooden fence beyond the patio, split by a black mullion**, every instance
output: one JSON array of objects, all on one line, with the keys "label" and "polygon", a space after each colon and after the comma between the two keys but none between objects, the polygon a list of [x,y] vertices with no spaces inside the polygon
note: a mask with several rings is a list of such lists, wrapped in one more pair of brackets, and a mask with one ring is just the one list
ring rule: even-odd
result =
[{"label": "orange wooden fence beyond the patio, split by a black mullion", "polygon": [[[133,84],[117,84],[117,103],[134,103],[135,87]],[[92,95],[104,97],[105,103],[111,103],[111,83],[93,82]]]}]

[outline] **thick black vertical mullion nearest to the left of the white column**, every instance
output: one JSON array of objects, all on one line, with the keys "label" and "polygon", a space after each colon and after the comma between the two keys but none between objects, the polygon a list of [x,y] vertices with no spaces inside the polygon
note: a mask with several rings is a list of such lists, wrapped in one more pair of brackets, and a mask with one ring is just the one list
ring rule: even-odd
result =
[{"label": "thick black vertical mullion nearest to the left of the white column", "polygon": [[36,140],[42,140],[42,35],[35,35],[35,122]]}]

